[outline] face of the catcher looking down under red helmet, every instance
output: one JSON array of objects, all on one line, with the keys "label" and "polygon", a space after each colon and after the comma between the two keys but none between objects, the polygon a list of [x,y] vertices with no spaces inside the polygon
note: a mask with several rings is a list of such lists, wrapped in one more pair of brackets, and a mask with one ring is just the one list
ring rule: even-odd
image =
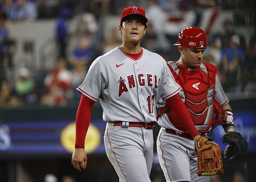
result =
[{"label": "face of the catcher looking down under red helmet", "polygon": [[205,49],[190,49],[179,47],[183,64],[187,67],[199,67],[203,61]]}]

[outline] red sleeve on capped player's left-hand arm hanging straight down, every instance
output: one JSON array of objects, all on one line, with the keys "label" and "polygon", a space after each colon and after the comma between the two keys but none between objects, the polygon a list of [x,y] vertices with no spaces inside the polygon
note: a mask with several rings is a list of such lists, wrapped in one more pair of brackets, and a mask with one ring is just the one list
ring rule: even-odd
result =
[{"label": "red sleeve on capped player's left-hand arm hanging straight down", "polygon": [[92,108],[95,101],[81,95],[80,103],[76,112],[76,142],[75,148],[84,148],[87,130],[90,125]]}]

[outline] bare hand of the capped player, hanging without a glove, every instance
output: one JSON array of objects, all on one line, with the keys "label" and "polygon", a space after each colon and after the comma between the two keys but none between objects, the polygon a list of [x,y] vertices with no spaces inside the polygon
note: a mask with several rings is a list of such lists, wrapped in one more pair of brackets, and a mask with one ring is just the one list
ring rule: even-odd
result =
[{"label": "bare hand of the capped player, hanging without a glove", "polygon": [[72,155],[72,165],[78,171],[86,169],[87,155],[83,148],[76,148]]}]

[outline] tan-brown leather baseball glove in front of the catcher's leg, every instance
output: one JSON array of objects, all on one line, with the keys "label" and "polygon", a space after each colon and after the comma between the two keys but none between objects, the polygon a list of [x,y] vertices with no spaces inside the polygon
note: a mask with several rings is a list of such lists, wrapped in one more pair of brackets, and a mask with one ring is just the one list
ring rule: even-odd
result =
[{"label": "tan-brown leather baseball glove in front of the catcher's leg", "polygon": [[199,176],[213,176],[223,174],[221,149],[216,143],[209,143],[206,137],[200,137],[195,143]]}]

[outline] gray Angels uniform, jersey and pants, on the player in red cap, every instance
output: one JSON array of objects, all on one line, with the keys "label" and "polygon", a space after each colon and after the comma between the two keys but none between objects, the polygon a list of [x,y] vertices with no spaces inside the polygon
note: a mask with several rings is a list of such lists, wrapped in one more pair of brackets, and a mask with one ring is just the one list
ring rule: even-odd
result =
[{"label": "gray Angels uniform, jersey and pants, on the player in red cap", "polygon": [[150,181],[153,130],[113,126],[112,122],[156,121],[159,99],[168,99],[180,90],[166,61],[143,48],[141,57],[134,60],[115,48],[92,63],[77,90],[102,106],[103,120],[108,122],[106,154],[120,181]]}]

